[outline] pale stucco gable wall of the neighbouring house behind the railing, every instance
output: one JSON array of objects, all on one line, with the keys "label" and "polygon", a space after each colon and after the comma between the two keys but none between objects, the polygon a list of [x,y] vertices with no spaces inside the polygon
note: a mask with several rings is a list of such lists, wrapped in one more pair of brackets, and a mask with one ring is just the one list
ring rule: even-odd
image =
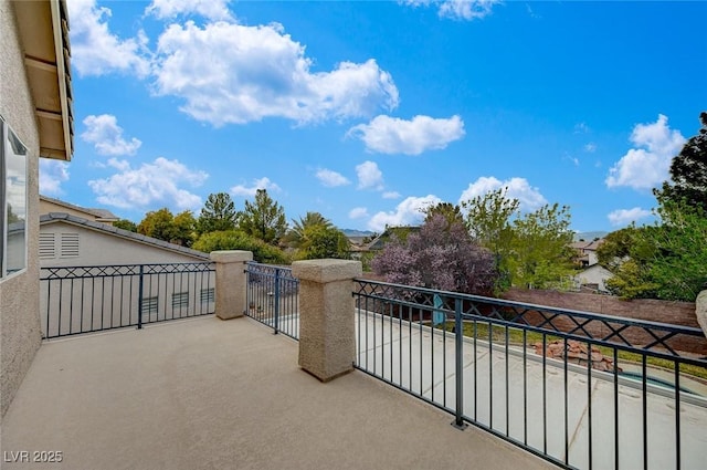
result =
[{"label": "pale stucco gable wall of the neighbouring house behind the railing", "polygon": [[[126,264],[171,264],[210,262],[191,255],[148,244],[133,238],[95,230],[67,221],[43,223],[41,232],[42,268],[118,267]],[[48,237],[53,236],[53,237]],[[71,255],[62,255],[62,237],[74,242]],[[54,239],[54,257],[45,257],[48,239]],[[76,255],[74,255],[76,254]],[[167,272],[166,272],[167,271]],[[85,275],[81,279],[54,279],[41,282],[42,333],[48,337],[135,325],[141,301],[152,299],[154,311],[143,309],[143,322],[211,313],[214,310],[215,274],[212,272],[169,272],[170,269],[62,270],[59,278]],[[49,273],[42,272],[43,276]],[[95,276],[95,278],[94,278]],[[211,290],[211,297],[204,301]],[[141,293],[141,295],[140,295]],[[183,304],[173,305],[173,295],[183,295]]]}]

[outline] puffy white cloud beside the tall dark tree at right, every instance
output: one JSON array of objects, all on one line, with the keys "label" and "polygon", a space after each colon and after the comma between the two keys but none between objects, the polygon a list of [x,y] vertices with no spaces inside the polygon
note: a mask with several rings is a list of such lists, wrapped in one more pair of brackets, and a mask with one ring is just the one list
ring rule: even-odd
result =
[{"label": "puffy white cloud beside the tall dark tree at right", "polygon": [[668,179],[671,161],[683,148],[685,137],[679,130],[672,130],[667,117],[659,114],[653,124],[636,124],[631,142],[636,148],[609,170],[605,182],[610,188],[651,189]]}]

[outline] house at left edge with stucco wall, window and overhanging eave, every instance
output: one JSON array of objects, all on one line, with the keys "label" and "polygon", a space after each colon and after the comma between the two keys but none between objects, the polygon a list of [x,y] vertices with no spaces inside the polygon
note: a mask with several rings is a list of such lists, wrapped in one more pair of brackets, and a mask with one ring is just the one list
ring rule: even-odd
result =
[{"label": "house at left edge with stucco wall, window and overhanging eave", "polygon": [[63,0],[0,0],[0,417],[40,347],[39,159],[73,153]]}]

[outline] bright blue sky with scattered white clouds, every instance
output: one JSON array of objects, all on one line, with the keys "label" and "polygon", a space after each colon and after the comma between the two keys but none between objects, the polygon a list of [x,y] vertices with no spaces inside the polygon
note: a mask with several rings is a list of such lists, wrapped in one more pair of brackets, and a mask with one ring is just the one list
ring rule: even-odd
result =
[{"label": "bright blue sky with scattered white clouds", "polygon": [[611,231],[707,111],[707,2],[67,3],[75,153],[41,192],[136,222],[265,188],[381,231],[508,187]]}]

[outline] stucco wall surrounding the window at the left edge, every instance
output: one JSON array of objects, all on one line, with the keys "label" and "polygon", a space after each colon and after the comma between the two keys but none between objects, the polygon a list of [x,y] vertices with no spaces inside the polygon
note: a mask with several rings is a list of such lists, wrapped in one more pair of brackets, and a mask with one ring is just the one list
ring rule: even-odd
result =
[{"label": "stucco wall surrounding the window at the left edge", "polygon": [[41,344],[39,307],[39,133],[14,10],[0,0],[0,115],[28,147],[28,267],[0,280],[0,417]]}]

